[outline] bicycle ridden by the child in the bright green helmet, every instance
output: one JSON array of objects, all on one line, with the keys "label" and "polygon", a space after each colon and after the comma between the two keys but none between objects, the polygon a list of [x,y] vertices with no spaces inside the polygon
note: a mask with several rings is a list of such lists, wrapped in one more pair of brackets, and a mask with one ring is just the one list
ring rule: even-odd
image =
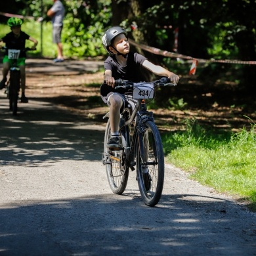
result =
[{"label": "bicycle ridden by the child in the bright green helmet", "polygon": [[17,66],[17,60],[20,56],[20,51],[33,51],[33,49],[28,47],[22,50],[8,49],[7,47],[2,49],[7,50],[8,58],[13,60],[9,69],[10,75],[5,93],[9,98],[9,109],[12,111],[12,115],[16,116],[18,112],[18,94],[20,92],[20,68]]}]

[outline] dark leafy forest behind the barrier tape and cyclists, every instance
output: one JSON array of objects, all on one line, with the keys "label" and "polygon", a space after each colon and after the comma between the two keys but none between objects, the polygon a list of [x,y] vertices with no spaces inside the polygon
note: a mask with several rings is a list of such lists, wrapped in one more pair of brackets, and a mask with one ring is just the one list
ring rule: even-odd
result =
[{"label": "dark leafy forest behind the barrier tape and cyclists", "polygon": [[[106,56],[101,44],[102,34],[112,25],[121,25],[131,39],[163,51],[206,60],[255,60],[256,1],[253,0],[239,0],[236,5],[232,0],[66,0],[63,3],[66,7],[64,54],[70,58]],[[51,22],[46,18],[41,26],[36,20],[45,17],[51,5],[52,0],[1,1],[0,22],[5,24],[7,21],[8,17],[3,15],[5,12],[20,14],[27,17],[27,22],[38,32],[41,28],[43,32],[49,32],[47,40],[43,37],[45,33],[41,35],[42,54],[47,56]],[[175,42],[177,29],[179,35]],[[3,34],[1,31],[0,35]],[[173,67],[183,67],[173,58],[146,51],[143,54],[157,64],[172,66],[172,70]],[[202,81],[211,77],[210,83],[214,84],[224,77],[236,81],[240,90],[249,92],[249,95],[256,92],[255,65],[211,62],[199,65],[203,66],[202,72],[198,70],[198,79]],[[186,66],[186,70],[189,68]]]}]

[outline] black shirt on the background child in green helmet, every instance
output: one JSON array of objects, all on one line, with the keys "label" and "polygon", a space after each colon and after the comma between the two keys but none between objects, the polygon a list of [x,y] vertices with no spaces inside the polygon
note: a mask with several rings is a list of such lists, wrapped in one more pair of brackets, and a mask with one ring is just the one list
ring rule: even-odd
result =
[{"label": "black shirt on the background child in green helmet", "polygon": [[[8,49],[16,49],[16,50],[22,50],[25,48],[26,40],[30,38],[30,35],[28,35],[25,32],[20,32],[19,37],[14,37],[14,33],[10,32],[5,35],[2,40],[5,43],[5,46]],[[8,53],[6,53],[8,55]],[[21,51],[20,52],[20,58],[26,57],[26,52]]]}]

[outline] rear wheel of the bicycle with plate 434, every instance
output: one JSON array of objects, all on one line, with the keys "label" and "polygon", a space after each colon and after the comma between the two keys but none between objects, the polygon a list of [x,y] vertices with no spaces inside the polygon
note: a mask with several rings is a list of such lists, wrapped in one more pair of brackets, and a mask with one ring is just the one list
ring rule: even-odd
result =
[{"label": "rear wheel of the bicycle with plate 434", "polygon": [[[127,186],[127,181],[129,177],[129,167],[126,167],[125,164],[122,165],[122,163],[124,163],[125,161],[121,161],[121,158],[123,158],[122,150],[112,151],[112,155],[110,155],[110,152],[106,147],[108,139],[110,139],[110,136],[110,120],[108,119],[104,137],[104,162],[106,166],[106,174],[112,192],[114,194],[122,194]],[[119,143],[120,148],[122,148],[123,142],[121,135],[119,138]]]}]

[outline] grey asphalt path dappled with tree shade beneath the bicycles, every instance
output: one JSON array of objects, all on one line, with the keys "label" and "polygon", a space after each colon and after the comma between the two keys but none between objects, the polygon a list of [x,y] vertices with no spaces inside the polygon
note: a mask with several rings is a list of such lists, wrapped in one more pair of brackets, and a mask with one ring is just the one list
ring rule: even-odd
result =
[{"label": "grey asphalt path dappled with tree shade beneath the bicycles", "polygon": [[12,116],[0,91],[0,255],[256,255],[256,215],[230,196],[170,164],[156,207],[134,172],[112,194],[104,125],[36,98],[19,106]]}]

